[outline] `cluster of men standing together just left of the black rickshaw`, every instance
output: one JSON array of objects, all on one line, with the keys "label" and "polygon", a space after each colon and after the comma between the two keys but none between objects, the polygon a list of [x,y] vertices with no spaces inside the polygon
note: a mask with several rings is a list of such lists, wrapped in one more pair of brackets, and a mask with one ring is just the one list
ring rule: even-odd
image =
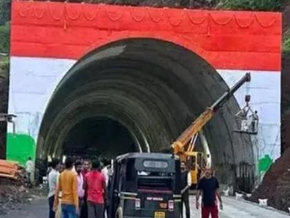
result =
[{"label": "cluster of men standing together just left of the black rickshaw", "polygon": [[[64,169],[53,160],[48,174],[49,217],[104,218],[108,206],[108,174],[99,158],[74,161],[67,157]],[[57,215],[57,213],[59,215]]]}]

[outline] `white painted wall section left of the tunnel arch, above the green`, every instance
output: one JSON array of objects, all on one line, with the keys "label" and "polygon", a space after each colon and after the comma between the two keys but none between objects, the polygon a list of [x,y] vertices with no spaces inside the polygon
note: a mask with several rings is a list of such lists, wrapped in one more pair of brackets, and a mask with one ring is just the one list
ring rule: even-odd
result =
[{"label": "white painted wall section left of the tunnel arch, above the green", "polygon": [[[41,57],[10,57],[8,112],[17,114],[17,133],[35,140],[43,113],[55,87],[76,60]],[[12,125],[8,125],[12,132]]]}]

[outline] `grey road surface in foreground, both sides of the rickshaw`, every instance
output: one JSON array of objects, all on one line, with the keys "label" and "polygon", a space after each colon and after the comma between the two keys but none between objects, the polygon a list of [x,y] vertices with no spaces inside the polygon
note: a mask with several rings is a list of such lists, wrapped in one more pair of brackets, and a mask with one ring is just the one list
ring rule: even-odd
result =
[{"label": "grey road surface in foreground, both sides of the rickshaw", "polygon": [[[191,197],[191,205],[194,205],[194,198]],[[35,199],[30,204],[18,207],[20,210],[13,210],[2,218],[45,218],[48,217],[48,203],[44,198]],[[191,217],[201,217],[200,211],[191,208]],[[233,198],[224,197],[224,210],[220,212],[220,218],[289,218],[285,212],[260,206],[247,201],[237,201]]]}]

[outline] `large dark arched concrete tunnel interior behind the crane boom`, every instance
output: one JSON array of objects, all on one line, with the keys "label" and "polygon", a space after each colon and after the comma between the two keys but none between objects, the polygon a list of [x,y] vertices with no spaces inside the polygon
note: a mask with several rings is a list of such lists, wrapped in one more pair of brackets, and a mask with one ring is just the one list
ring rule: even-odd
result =
[{"label": "large dark arched concrete tunnel interior behind the crane boom", "polygon": [[[56,87],[37,158],[158,152],[226,89],[206,60],[182,46],[148,38],[111,42],[78,60]],[[249,136],[233,132],[239,109],[231,98],[203,129],[216,174],[230,185],[251,183],[255,169]]]}]

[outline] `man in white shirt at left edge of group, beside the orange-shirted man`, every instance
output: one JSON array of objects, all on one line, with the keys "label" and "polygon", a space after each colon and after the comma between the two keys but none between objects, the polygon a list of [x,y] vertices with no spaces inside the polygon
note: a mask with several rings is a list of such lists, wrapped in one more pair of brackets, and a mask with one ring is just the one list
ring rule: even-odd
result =
[{"label": "man in white shirt at left edge of group, beside the orange-shirted man", "polygon": [[55,189],[57,188],[57,181],[59,178],[59,161],[52,160],[51,170],[48,174],[48,206],[49,206],[49,218],[55,218],[55,211],[53,211],[53,203],[55,201]]}]

